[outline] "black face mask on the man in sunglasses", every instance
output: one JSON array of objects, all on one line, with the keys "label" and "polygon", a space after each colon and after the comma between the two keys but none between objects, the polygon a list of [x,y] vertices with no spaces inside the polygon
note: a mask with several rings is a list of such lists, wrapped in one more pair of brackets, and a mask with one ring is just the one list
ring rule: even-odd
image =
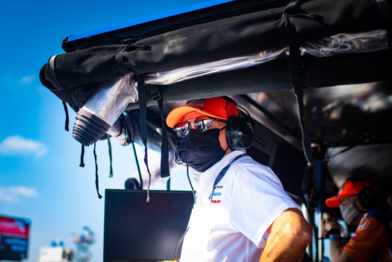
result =
[{"label": "black face mask on the man in sunglasses", "polygon": [[225,156],[226,151],[221,148],[219,133],[214,128],[206,132],[191,129],[189,135],[181,139],[178,156],[181,162],[186,163],[198,172],[204,172],[215,165]]}]

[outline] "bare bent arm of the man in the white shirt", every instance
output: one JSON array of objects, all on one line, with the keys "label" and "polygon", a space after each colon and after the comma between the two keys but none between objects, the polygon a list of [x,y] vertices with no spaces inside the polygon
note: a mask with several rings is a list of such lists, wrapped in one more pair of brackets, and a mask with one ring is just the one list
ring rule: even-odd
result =
[{"label": "bare bent arm of the man in the white shirt", "polygon": [[282,212],[268,228],[260,261],[301,261],[311,240],[311,226],[299,209]]}]

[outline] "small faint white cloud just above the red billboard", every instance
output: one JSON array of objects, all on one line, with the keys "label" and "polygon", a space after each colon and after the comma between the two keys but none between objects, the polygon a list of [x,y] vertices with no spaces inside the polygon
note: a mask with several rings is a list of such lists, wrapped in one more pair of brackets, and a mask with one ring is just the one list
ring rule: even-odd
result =
[{"label": "small faint white cloud just above the red billboard", "polygon": [[21,198],[38,198],[38,192],[33,187],[0,185],[1,202],[20,202]]}]

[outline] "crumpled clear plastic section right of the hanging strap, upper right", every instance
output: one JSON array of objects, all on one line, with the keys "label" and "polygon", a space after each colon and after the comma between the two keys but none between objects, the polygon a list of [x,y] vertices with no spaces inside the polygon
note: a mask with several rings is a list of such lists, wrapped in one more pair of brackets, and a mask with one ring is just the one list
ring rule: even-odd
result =
[{"label": "crumpled clear plastic section right of the hanging strap, upper right", "polygon": [[305,42],[300,46],[301,55],[329,57],[346,53],[365,53],[388,49],[386,30],[374,30],[358,34],[335,34],[318,41]]}]

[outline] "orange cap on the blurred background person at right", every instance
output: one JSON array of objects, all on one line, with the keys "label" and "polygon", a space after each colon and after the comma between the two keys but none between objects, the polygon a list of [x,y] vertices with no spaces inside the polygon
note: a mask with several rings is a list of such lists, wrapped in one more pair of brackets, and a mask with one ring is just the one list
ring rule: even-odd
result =
[{"label": "orange cap on the blurred background person at right", "polygon": [[325,200],[325,205],[327,205],[327,207],[339,207],[340,201],[342,201],[343,198],[347,198],[351,195],[358,195],[359,191],[368,187],[374,188],[374,185],[367,179],[361,179],[358,181],[346,180],[340,187],[337,195]]}]

